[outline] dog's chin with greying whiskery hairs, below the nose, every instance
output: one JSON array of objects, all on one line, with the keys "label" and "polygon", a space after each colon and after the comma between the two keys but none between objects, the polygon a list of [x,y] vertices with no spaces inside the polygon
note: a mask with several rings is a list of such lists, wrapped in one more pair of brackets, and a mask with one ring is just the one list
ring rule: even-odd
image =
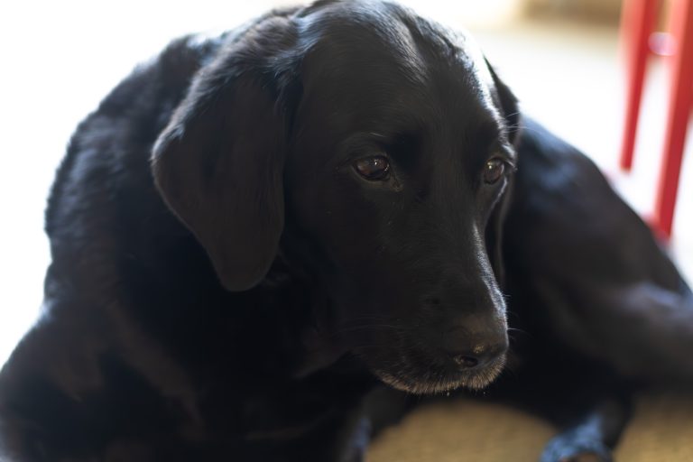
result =
[{"label": "dog's chin with greying whiskery hairs, below the nose", "polygon": [[497,357],[483,368],[471,371],[448,371],[436,368],[415,371],[411,366],[402,365],[399,370],[373,368],[373,372],[383,383],[402,392],[439,394],[459,388],[481,390],[501,374],[504,365],[505,355]]}]

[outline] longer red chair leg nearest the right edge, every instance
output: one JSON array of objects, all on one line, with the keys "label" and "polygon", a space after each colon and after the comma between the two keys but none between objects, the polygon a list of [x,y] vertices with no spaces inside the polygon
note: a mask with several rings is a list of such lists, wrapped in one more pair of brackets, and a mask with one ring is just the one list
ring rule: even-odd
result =
[{"label": "longer red chair leg nearest the right edge", "polygon": [[676,51],[671,66],[669,114],[654,204],[655,225],[667,237],[671,236],[674,221],[679,173],[693,98],[693,0],[675,0],[671,14],[671,32]]}]

